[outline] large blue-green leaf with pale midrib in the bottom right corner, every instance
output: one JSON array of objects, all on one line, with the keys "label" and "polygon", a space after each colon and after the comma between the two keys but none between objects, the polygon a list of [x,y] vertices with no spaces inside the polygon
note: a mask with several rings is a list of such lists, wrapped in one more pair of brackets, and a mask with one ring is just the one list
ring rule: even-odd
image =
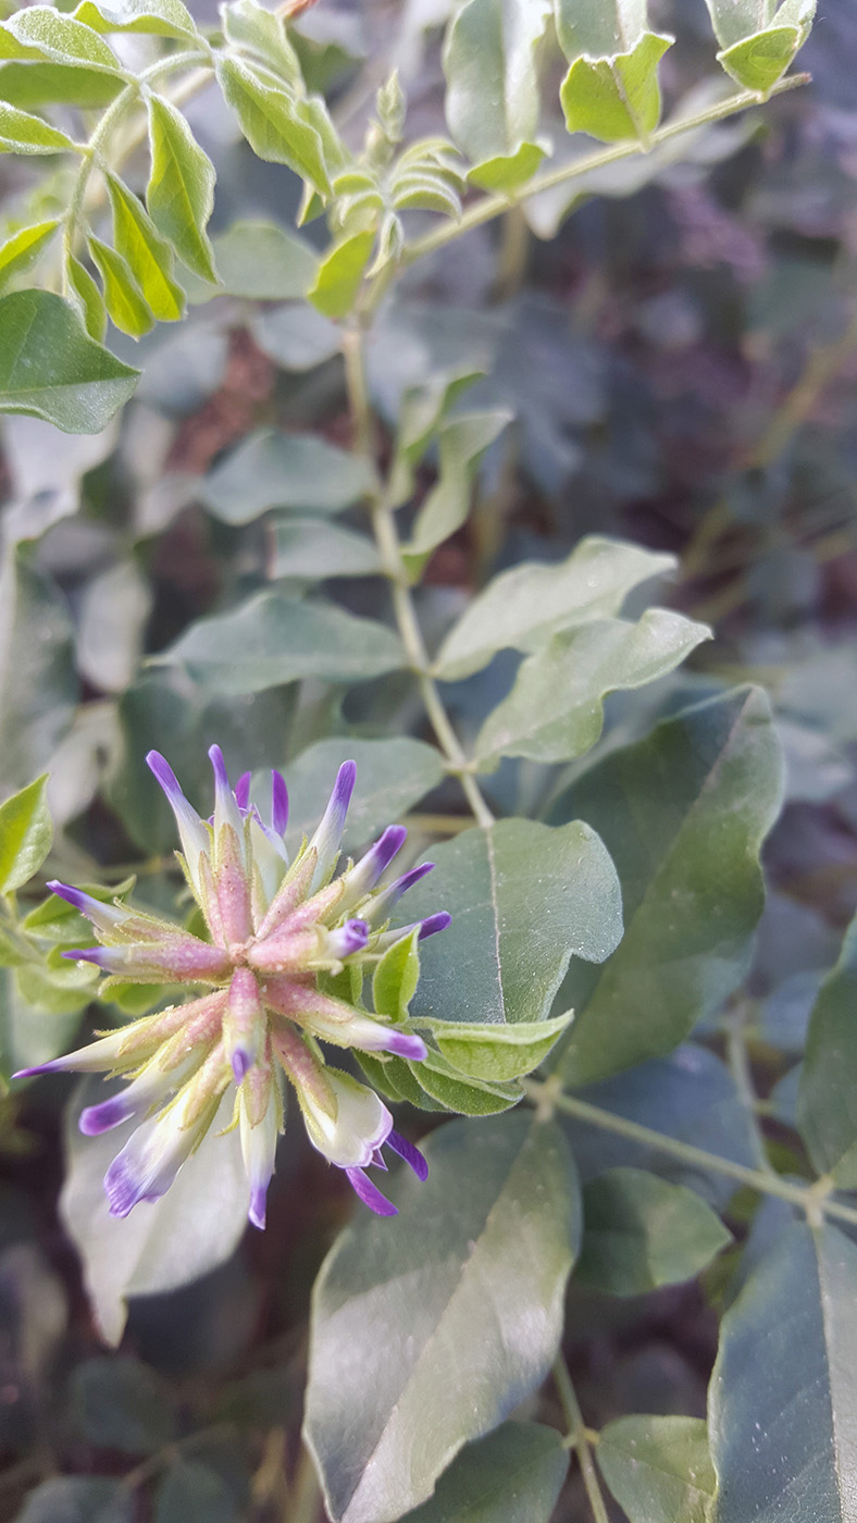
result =
[{"label": "large blue-green leaf with pale midrib in the bottom right corner", "polygon": [[851,1523],[857,1247],[793,1223],[723,1319],[708,1430],[709,1523]]}]

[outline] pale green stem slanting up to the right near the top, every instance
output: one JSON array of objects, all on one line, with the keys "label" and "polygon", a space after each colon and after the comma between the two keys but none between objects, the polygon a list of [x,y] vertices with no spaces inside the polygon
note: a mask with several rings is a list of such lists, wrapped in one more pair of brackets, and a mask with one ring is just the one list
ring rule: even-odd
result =
[{"label": "pale green stem slanting up to the right near the top", "polygon": [[[808,81],[808,75],[790,75],[789,79],[781,79],[769,96],[782,94],[785,90],[795,90],[798,85],[804,85]],[[568,184],[572,180],[578,180],[581,175],[591,174],[594,169],[603,169],[606,164],[615,164],[620,158],[635,158],[638,154],[645,154],[653,148],[659,148],[661,143],[668,143],[671,137],[680,137],[682,133],[693,133],[696,128],[709,126],[712,122],[723,122],[729,116],[735,116],[737,111],[746,111],[747,107],[760,105],[761,96],[755,90],[741,90],[740,94],[729,96],[726,101],[718,101],[715,105],[708,107],[705,111],[699,111],[696,116],[677,117],[673,122],[667,122],[652,133],[645,143],[629,142],[629,143],[612,143],[609,148],[601,148],[594,154],[583,154],[580,158],[571,160],[571,163],[559,164],[556,169],[546,169],[545,174],[536,175],[528,184],[522,186],[515,196],[495,193],[486,195],[481,201],[475,201],[469,206],[458,222],[444,222],[441,227],[435,228],[432,233],[426,233],[425,238],[414,239],[408,244],[403,253],[403,260],[413,263],[414,259],[422,259],[423,254],[432,254],[435,248],[443,248],[444,244],[454,242],[461,233],[469,233],[472,227],[479,227],[483,222],[493,221],[495,216],[501,216],[508,212],[508,207],[516,201],[524,198],[539,195],[540,190],[553,190],[554,186]]]}]

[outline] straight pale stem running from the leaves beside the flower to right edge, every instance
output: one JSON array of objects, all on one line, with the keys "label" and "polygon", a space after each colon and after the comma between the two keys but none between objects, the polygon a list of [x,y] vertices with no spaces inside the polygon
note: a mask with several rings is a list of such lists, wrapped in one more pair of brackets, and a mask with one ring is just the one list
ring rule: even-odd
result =
[{"label": "straight pale stem running from the leaves beside the flower to right edge", "polygon": [[749,1185],[750,1189],[758,1189],[763,1196],[776,1196],[779,1200],[787,1200],[790,1205],[798,1206],[810,1220],[825,1215],[834,1217],[837,1221],[857,1224],[857,1209],[854,1206],[846,1206],[839,1200],[830,1199],[830,1193],[834,1188],[831,1179],[817,1179],[813,1185],[795,1185],[792,1180],[773,1173],[773,1170],[767,1173],[761,1168],[749,1168],[746,1164],[734,1164],[732,1159],[720,1157],[718,1153],[708,1153],[702,1147],[694,1147],[693,1142],[680,1142],[679,1138],[655,1132],[652,1127],[641,1125],[639,1121],[627,1121],[624,1116],[613,1115],[612,1110],[603,1110],[601,1106],[591,1106],[588,1100],[578,1100],[577,1095],[568,1095],[565,1090],[557,1089],[550,1080],[542,1084],[537,1080],[527,1078],[524,1080],[524,1087],[534,1103],[548,1101],[556,1110],[562,1110],[566,1116],[574,1116],[575,1121],[585,1121],[592,1127],[600,1127],[603,1132],[613,1132],[616,1136],[627,1138],[629,1142],[639,1142],[641,1147],[668,1153],[670,1157],[676,1157],[682,1164],[705,1168],[714,1174],[725,1174],[726,1179],[734,1179],[740,1185]]}]

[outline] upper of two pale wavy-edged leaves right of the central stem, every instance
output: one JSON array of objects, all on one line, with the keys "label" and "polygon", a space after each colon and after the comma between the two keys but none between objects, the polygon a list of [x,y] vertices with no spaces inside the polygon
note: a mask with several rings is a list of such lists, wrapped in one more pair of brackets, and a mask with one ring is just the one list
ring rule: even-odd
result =
[{"label": "upper of two pale wavy-edged leaves right of the central stem", "polygon": [[559,565],[524,562],[502,571],[448,634],[435,673],[457,681],[498,650],[537,650],[560,629],[618,614],[632,588],[673,567],[673,556],[589,535]]}]

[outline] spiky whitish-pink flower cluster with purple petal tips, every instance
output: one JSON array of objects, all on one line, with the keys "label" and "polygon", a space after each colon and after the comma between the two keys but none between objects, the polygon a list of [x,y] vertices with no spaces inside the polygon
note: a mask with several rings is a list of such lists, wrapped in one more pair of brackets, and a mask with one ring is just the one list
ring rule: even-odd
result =
[{"label": "spiky whitish-pink flower cluster with purple petal tips", "polygon": [[285,1080],[295,1089],[314,1147],[346,1171],[367,1206],[393,1215],[396,1208],[367,1167],[385,1168],[385,1144],[420,1179],[426,1177],[425,1159],[393,1130],[387,1106],[371,1089],[326,1065],[318,1040],[413,1060],[422,1060],[426,1048],[402,1025],[320,987],[320,975],[376,963],[414,931],[417,940],[443,931],[446,912],[388,929],[393,906],[431,864],[379,888],[406,835],[402,825],[390,825],[358,862],[349,860],[335,876],[355,786],[353,762],[339,768],[321,824],[289,864],[283,839],[288,795],[280,774],[272,774],[271,821],[263,824],[250,803],[250,774],[233,790],[219,746],[209,755],[215,769],[210,819],[196,815],[157,751],[146,760],[172,806],[183,848],[177,856],[210,940],[120,902],[108,905],[65,883],[49,885],[88,917],[102,943],[67,956],[94,963],[122,981],[202,985],[205,991],[23,1072],[108,1072],[126,1080],[119,1094],[81,1115],[88,1136],[137,1122],[105,1176],[113,1215],[125,1217],[140,1200],[158,1200],[169,1189],[212,1127],[225,1090],[234,1086],[231,1124],[241,1129],[250,1220],[263,1228],[283,1129]]}]

